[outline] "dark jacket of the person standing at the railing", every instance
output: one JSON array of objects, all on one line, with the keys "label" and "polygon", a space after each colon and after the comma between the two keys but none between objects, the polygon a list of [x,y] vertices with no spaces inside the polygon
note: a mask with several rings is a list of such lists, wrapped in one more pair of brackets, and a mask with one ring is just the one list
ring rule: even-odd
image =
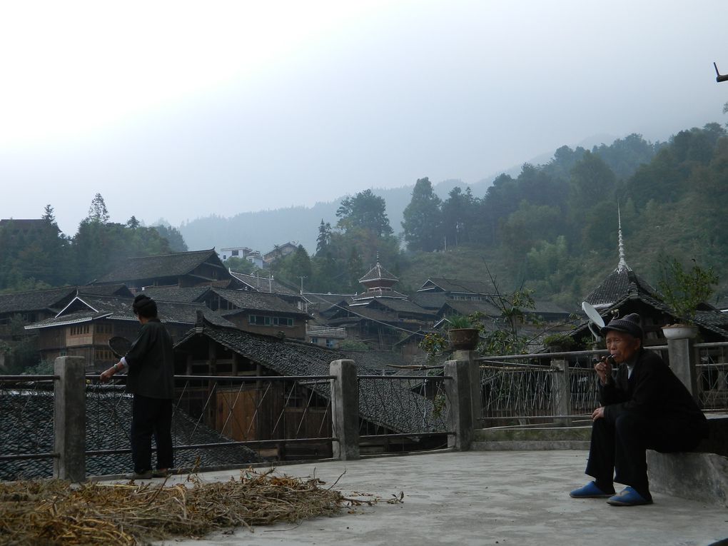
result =
[{"label": "dark jacket of the person standing at the railing", "polygon": [[127,392],[149,398],[174,398],[172,336],[159,319],[142,325],[124,358],[129,366]]}]

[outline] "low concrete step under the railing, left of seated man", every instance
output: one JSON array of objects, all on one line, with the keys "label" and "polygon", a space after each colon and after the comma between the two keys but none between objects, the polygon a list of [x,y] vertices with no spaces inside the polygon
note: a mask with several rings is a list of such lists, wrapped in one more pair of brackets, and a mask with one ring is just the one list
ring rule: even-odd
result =
[{"label": "low concrete step under the railing, left of seated man", "polygon": [[497,427],[475,431],[473,451],[588,449],[591,427]]}]

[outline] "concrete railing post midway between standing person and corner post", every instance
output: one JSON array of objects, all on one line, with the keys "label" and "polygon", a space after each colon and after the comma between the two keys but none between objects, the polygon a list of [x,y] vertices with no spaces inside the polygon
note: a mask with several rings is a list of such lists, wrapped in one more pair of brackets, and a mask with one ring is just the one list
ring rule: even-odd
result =
[{"label": "concrete railing post midway between standing person and corner post", "polygon": [[359,459],[359,380],[354,360],[333,360],[331,379],[331,428],[335,459]]}]

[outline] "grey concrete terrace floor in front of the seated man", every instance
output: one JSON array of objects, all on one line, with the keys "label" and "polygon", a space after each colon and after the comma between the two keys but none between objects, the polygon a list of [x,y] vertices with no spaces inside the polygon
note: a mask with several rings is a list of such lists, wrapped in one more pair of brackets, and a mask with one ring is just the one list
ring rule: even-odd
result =
[{"label": "grey concrete terrace floor in front of the seated man", "polygon": [[[404,502],[357,508],[300,525],[218,532],[157,545],[696,545],[728,537],[728,509],[653,494],[654,505],[611,507],[604,499],[571,499],[587,481],[586,451],[443,451],[277,469],[315,475],[345,496],[369,493]],[[240,471],[205,472],[229,480]],[[183,480],[186,476],[176,476]],[[155,480],[157,481],[157,480]],[[619,486],[618,489],[619,490]],[[229,532],[229,531],[228,531]]]}]

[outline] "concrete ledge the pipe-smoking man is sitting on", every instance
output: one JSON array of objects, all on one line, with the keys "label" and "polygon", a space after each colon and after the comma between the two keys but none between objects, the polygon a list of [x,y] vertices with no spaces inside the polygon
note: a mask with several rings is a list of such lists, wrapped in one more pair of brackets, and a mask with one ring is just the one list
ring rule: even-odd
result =
[{"label": "concrete ledge the pipe-smoking man is sitting on", "polygon": [[728,457],[647,450],[647,475],[652,491],[728,507]]}]

